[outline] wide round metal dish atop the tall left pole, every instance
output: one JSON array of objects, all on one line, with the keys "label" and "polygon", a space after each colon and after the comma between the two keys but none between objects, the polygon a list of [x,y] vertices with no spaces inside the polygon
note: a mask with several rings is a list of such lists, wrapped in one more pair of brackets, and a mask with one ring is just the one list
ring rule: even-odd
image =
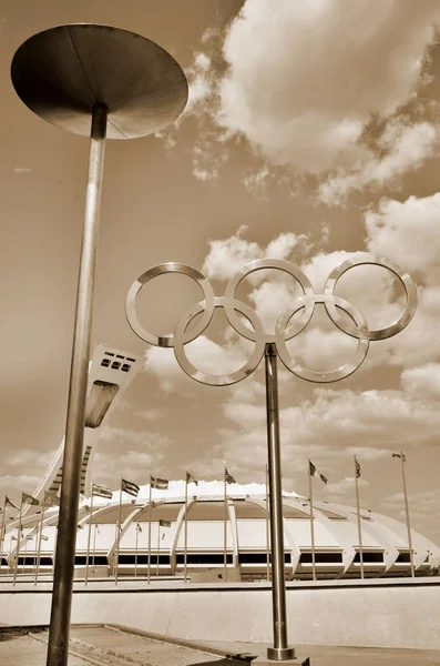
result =
[{"label": "wide round metal dish atop the tall left pole", "polygon": [[109,110],[108,138],[160,131],[185,108],[178,63],[155,42],[120,28],[75,23],[34,34],[16,52],[11,78],[31,111],[90,137],[92,108]]}]

